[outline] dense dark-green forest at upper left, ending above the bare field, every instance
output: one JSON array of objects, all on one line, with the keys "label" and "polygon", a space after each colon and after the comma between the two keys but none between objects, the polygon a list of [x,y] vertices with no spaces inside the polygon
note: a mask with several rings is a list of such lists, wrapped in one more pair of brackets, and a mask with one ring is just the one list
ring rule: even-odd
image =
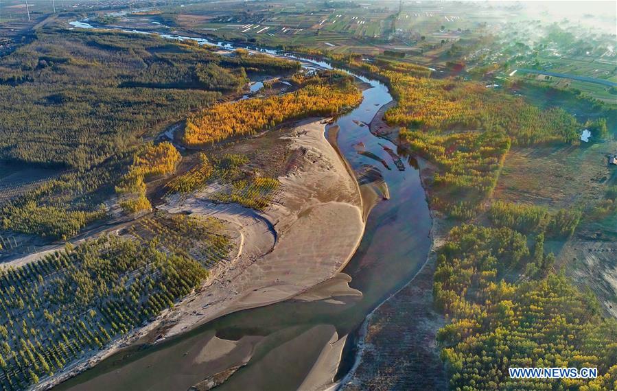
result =
[{"label": "dense dark-green forest at upper left, ending above the bare field", "polygon": [[243,88],[247,72],[299,69],[154,35],[49,27],[36,37],[0,60],[0,159],[87,169]]}]

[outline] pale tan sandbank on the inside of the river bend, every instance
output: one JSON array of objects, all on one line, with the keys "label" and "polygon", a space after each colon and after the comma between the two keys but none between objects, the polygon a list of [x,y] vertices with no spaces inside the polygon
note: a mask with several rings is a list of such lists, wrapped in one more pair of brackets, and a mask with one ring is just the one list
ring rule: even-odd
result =
[{"label": "pale tan sandbank on the inside of the river bend", "polygon": [[[279,177],[282,191],[277,202],[263,213],[235,204],[213,204],[207,200],[208,189],[185,198],[167,198],[160,209],[170,213],[216,216],[226,222],[229,230],[235,231],[235,257],[229,264],[212,270],[208,281],[174,309],[165,311],[113,348],[74,366],[70,375],[45,382],[42,388],[77,375],[122,346],[137,341],[156,344],[225,314],[286,300],[332,277],[340,283],[336,284],[336,289],[325,287],[326,296],[360,294],[349,288],[348,277],[338,277],[364,232],[360,188],[345,161],[325,139],[324,130],[325,121],[310,119],[297,123],[290,130],[277,132],[277,137],[290,150],[292,164],[288,173]],[[267,153],[268,150],[264,150],[264,154]],[[300,295],[299,300],[320,300],[324,294]],[[325,342],[332,337],[333,334],[328,335]],[[254,341],[250,344],[252,346]],[[238,348],[246,349],[242,346],[244,342],[240,342]],[[334,356],[336,351],[340,356],[338,347],[342,348],[342,343],[336,346]],[[250,357],[242,355],[237,362],[225,359],[225,369],[239,368]],[[323,357],[320,362],[329,364],[318,365],[312,379],[322,379],[320,374],[324,370],[328,375],[336,372],[336,368],[332,370],[331,358]],[[215,369],[220,372],[218,365],[208,367],[207,372],[202,368],[200,379],[189,386],[197,385],[207,375],[217,375],[213,372]],[[91,388],[89,382],[82,386],[96,389]]]}]

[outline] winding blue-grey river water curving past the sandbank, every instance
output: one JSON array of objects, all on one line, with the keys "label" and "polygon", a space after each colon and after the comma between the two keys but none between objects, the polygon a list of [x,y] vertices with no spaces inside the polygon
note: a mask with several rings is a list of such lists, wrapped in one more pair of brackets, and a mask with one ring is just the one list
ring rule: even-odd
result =
[{"label": "winding blue-grey river water curving past the sandbank", "polygon": [[[78,27],[84,27],[83,24]],[[198,41],[212,44],[207,40]],[[230,47],[224,43],[218,46]],[[331,68],[325,62],[301,60],[308,66]],[[336,120],[340,128],[338,145],[357,173],[367,167],[378,169],[391,197],[379,202],[371,211],[360,246],[343,270],[352,278],[349,285],[362,292],[362,296],[312,302],[286,300],[231,313],[154,346],[127,348],[62,383],[58,389],[187,390],[207,375],[226,369],[224,358],[216,364],[199,359],[213,335],[240,340],[239,346],[255,348],[248,364],[219,386],[223,390],[299,388],[321,349],[329,342],[329,337],[324,337],[327,332],[320,332],[324,330],[336,329],[339,336],[351,335],[343,351],[339,375],[349,370],[356,353],[354,335],[358,328],[375,307],[406,285],[421,268],[430,249],[431,227],[415,162],[402,158],[397,167],[396,145],[371,134],[366,126],[384,104],[391,102],[388,88],[376,80],[358,78],[370,84],[370,88],[363,91],[364,98],[358,108]],[[240,350],[231,351],[229,355],[246,353]],[[233,362],[238,357],[229,359]]]}]

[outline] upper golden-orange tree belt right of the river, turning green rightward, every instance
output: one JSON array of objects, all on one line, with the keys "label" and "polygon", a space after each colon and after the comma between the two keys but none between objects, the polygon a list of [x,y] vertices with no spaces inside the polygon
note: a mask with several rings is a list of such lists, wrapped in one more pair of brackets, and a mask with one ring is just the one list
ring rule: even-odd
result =
[{"label": "upper golden-orange tree belt right of the river, turning green rightward", "polygon": [[580,124],[561,109],[540,110],[476,82],[415,78],[394,71],[382,75],[399,101],[386,112],[389,123],[421,130],[504,131],[518,145],[577,139]]}]

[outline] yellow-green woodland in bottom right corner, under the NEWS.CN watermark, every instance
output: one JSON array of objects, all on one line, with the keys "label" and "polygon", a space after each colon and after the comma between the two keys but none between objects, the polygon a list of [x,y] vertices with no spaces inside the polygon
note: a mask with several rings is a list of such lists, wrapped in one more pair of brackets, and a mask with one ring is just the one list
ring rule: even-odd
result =
[{"label": "yellow-green woodland in bottom right corner, under the NEWS.CN watermark", "polygon": [[[510,228],[463,225],[450,232],[433,290],[449,320],[437,338],[453,389],[614,389],[617,321],[601,316],[592,292],[552,271],[552,254],[541,244],[532,254],[526,237]],[[546,270],[508,281],[531,263]],[[568,366],[596,367],[600,376],[511,379],[508,373],[509,367]]]}]

